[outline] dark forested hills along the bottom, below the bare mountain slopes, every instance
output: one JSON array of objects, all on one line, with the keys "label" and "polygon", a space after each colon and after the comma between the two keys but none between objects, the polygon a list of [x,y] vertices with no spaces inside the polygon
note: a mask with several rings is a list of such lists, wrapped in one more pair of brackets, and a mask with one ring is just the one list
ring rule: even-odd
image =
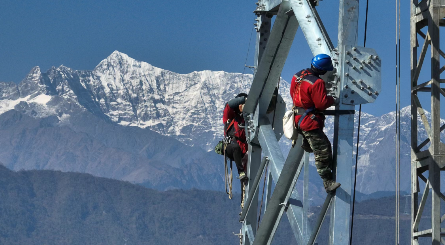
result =
[{"label": "dark forested hills along the bottom, below the bare mountain slopes", "polygon": [[[161,192],[89,174],[0,166],[0,244],[110,245],[125,237],[127,244],[239,244],[232,234],[241,227],[239,201],[238,194],[229,200],[224,192]],[[311,209],[311,222],[319,209]],[[394,243],[394,210],[394,197],[359,202],[353,244]],[[402,215],[402,244],[409,243],[409,220]],[[328,224],[329,216],[318,244],[327,243]],[[286,217],[280,226],[274,244],[297,244]]]}]

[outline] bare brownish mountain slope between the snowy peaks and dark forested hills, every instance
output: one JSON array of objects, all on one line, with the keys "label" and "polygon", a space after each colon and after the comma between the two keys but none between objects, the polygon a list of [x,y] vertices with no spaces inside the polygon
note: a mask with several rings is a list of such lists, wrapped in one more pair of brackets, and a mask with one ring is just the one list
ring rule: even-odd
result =
[{"label": "bare brownish mountain slope between the snowy peaks and dark forested hills", "polygon": [[[151,130],[79,113],[67,126],[57,116],[0,115],[0,162],[13,170],[90,173],[165,189],[223,189],[221,157]],[[222,164],[220,164],[222,167]]]}]

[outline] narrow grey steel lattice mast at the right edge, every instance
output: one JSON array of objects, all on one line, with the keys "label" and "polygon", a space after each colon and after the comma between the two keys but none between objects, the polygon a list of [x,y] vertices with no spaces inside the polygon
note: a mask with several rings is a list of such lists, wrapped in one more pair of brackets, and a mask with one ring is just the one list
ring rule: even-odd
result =
[{"label": "narrow grey steel lattice mast at the right edge", "polygon": [[[411,2],[411,244],[419,244],[419,237],[431,237],[431,244],[445,244],[445,230],[441,223],[445,215],[441,216],[441,171],[445,167],[445,145],[441,142],[440,132],[445,125],[440,125],[440,97],[445,96],[441,88],[444,80],[440,74],[445,66],[440,65],[441,56],[445,54],[440,49],[439,29],[445,26],[445,0],[412,0]],[[419,42],[422,49],[418,53]],[[419,76],[427,56],[431,51],[431,77],[428,81],[419,83]],[[418,57],[419,54],[419,57]],[[431,126],[418,98],[419,92],[431,93]],[[418,119],[423,127],[419,128]],[[419,144],[418,131],[425,129],[428,138]],[[430,143],[428,149],[424,149]],[[428,171],[428,177],[423,175]],[[419,179],[425,183],[419,200]],[[430,193],[431,189],[431,193]],[[423,210],[427,198],[431,195],[431,228],[419,230],[422,215],[429,215]]]}]

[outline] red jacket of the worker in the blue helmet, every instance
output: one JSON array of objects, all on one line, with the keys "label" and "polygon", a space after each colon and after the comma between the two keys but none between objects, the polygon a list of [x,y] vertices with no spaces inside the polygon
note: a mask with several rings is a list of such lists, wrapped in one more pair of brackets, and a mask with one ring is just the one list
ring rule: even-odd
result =
[{"label": "red jacket of the worker in the blue helmet", "polygon": [[[300,77],[303,71],[304,70],[298,72],[292,77],[291,97],[294,105],[306,109],[315,106],[315,109],[318,111],[323,111],[331,107],[332,104],[334,104],[334,98],[326,95],[325,81],[318,76],[312,75],[310,69],[306,70],[309,72],[309,75],[301,81],[300,92],[294,94],[298,84],[295,80]],[[303,105],[300,103],[300,96]],[[310,116],[306,116],[300,124],[300,129],[302,131],[322,129],[325,126],[325,116],[319,113],[317,113],[316,116],[317,120],[312,120]],[[300,117],[301,115],[295,116],[295,125],[298,125]]]}]

